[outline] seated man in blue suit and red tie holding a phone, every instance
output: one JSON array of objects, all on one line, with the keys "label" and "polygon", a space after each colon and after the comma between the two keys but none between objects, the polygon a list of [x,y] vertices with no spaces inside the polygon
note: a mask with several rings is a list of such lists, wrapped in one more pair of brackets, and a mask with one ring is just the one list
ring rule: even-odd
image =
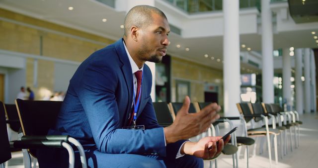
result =
[{"label": "seated man in blue suit and red tie holding a phone", "polygon": [[[94,52],[79,66],[49,134],[78,139],[89,167],[202,168],[201,158],[218,155],[223,140],[184,139],[206,131],[219,118],[220,106],[210,104],[200,113],[189,114],[186,97],[173,124],[159,126],[150,96],[152,74],[144,63],[159,62],[166,54],[167,18],[156,7],[139,5],[127,13],[124,27],[122,39]],[[65,167],[65,151],[52,151],[50,157],[47,151],[39,151],[40,166]]]}]

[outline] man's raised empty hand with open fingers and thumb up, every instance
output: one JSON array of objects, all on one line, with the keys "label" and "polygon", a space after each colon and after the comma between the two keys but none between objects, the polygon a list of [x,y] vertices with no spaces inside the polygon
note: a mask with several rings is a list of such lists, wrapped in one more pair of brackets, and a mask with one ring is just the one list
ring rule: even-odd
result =
[{"label": "man's raised empty hand with open fingers and thumb up", "polygon": [[190,98],[186,96],[174,122],[164,128],[167,144],[197,136],[205,132],[211,123],[220,118],[217,112],[221,110],[221,107],[217,103],[211,103],[200,112],[190,114],[188,112],[189,106]]}]

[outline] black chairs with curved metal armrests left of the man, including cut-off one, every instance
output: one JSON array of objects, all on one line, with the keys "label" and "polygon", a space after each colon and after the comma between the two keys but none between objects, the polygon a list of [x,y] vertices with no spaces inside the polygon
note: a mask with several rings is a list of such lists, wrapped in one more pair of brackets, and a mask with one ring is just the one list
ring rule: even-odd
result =
[{"label": "black chairs with curved metal armrests left of the man, including cut-off one", "polygon": [[[56,123],[61,105],[62,101],[16,99],[15,104],[0,102],[0,167],[4,167],[3,163],[11,158],[12,149],[22,149],[24,167],[31,168],[30,155],[36,158],[37,149],[65,148],[69,153],[69,168],[74,168],[72,146],[75,146],[79,150],[82,168],[87,168],[83,147],[76,139],[70,136],[47,136],[48,130]],[[6,123],[13,131],[21,128],[18,140],[9,142]]]}]

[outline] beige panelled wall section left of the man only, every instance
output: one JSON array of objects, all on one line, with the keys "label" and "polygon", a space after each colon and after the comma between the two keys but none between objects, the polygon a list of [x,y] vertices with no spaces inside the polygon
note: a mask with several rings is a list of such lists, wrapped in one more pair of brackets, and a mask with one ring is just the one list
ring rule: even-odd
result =
[{"label": "beige panelled wall section left of the man only", "polygon": [[[82,62],[92,52],[113,43],[113,40],[71,29],[54,23],[42,21],[0,8],[0,49],[25,54],[40,55],[42,37],[42,55]],[[34,59],[26,59],[26,87],[35,92],[35,98],[41,99],[38,88],[54,89],[54,62],[38,61],[38,87],[33,86]],[[22,84],[21,84],[22,85]],[[19,90],[19,88],[16,88]]]}]

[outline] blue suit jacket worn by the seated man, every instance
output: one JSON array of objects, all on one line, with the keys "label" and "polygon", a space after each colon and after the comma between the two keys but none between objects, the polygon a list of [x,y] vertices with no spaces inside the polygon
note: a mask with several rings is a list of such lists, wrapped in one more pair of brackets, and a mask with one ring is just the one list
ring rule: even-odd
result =
[{"label": "blue suit jacket worn by the seated man", "polygon": [[128,123],[133,101],[133,75],[123,39],[94,52],[70,81],[55,128],[50,135],[70,135],[102,153],[157,153],[175,158],[184,141],[165,147],[150,96],[152,74],[144,65],[137,125],[146,130],[121,129]]}]

